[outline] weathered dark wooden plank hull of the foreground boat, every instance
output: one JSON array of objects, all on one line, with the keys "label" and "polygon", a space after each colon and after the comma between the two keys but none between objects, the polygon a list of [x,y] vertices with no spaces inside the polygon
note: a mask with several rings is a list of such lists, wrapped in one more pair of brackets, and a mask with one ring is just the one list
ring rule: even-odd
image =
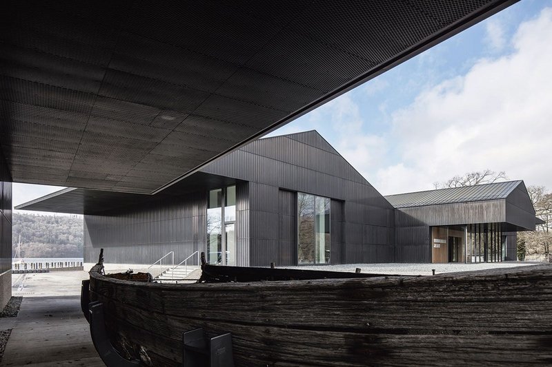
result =
[{"label": "weathered dark wooden plank hull of the foreground boat", "polygon": [[430,277],[219,284],[90,273],[112,344],[181,366],[182,333],[232,333],[236,366],[552,364],[552,265]]}]

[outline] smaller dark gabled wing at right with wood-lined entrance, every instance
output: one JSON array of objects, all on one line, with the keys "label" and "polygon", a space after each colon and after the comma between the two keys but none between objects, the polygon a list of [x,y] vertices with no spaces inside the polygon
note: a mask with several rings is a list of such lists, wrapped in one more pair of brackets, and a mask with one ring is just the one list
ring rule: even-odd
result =
[{"label": "smaller dark gabled wing at right with wood-lined entrance", "polygon": [[386,196],[397,208],[397,262],[517,260],[516,232],[535,230],[523,181]]}]

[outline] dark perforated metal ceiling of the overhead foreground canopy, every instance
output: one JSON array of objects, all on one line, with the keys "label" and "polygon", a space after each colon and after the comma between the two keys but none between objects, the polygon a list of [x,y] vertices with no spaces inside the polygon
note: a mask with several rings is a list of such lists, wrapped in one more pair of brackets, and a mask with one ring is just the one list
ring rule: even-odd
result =
[{"label": "dark perforated metal ceiling of the overhead foreground canopy", "polygon": [[15,182],[151,193],[514,2],[10,0],[1,148]]}]

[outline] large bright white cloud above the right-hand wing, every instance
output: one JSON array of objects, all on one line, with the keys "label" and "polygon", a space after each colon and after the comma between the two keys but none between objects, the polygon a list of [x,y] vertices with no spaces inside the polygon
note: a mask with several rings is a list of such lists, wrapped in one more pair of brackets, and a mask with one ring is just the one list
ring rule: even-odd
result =
[{"label": "large bright white cloud above the right-hand wing", "polygon": [[552,189],[552,9],[520,25],[512,44],[508,56],[477,61],[393,114],[402,161],[380,169],[375,187],[385,194],[431,189],[489,168]]}]

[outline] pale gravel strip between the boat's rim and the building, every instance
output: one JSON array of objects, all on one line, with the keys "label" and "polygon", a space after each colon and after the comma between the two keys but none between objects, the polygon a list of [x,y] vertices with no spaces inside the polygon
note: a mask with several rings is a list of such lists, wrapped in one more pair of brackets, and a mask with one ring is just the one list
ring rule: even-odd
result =
[{"label": "pale gravel strip between the boat's rim and the building", "polygon": [[435,274],[456,273],[458,271],[478,271],[484,269],[511,268],[514,266],[530,266],[542,264],[542,262],[484,262],[478,264],[346,264],[346,265],[315,265],[315,266],[283,266],[286,269],[325,270],[325,271],[351,271],[360,268],[362,273],[396,274],[396,275],[431,275],[431,269]]}]

